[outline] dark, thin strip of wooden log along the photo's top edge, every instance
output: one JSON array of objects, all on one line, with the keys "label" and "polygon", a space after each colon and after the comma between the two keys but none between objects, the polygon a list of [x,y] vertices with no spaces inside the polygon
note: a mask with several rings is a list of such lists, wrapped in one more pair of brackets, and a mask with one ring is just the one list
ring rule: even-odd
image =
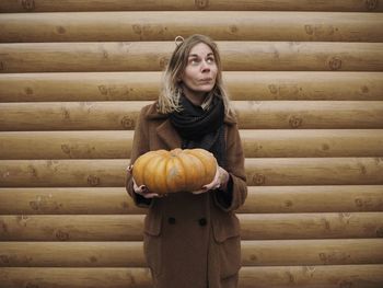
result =
[{"label": "dark, thin strip of wooden log along the photo's top edge", "polygon": [[151,10],[223,10],[223,11],[252,11],[252,10],[276,10],[276,11],[383,11],[379,1],[363,0],[242,0],[233,2],[230,0],[187,1],[187,0],[61,0],[51,2],[49,0],[14,1],[2,0],[0,12],[51,12],[51,11],[151,11]]}]

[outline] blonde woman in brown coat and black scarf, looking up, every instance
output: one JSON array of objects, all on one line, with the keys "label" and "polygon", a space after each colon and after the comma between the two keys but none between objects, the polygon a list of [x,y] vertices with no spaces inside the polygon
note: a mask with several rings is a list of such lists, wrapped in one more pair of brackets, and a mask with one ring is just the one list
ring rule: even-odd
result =
[{"label": "blonde woman in brown coat and black scarf, looking up", "polygon": [[247,195],[239,129],[216,44],[204,35],[176,44],[159,100],[140,113],[129,172],[139,155],[175,148],[209,150],[218,172],[197,192],[163,197],[138,187],[128,173],[127,191],[136,205],[149,208],[144,254],[154,287],[233,288],[241,267],[234,210]]}]

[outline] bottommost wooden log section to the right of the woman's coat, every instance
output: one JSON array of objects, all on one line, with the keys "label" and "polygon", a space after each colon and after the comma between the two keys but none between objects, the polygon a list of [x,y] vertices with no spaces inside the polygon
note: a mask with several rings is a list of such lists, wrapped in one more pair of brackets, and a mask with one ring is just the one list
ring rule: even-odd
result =
[{"label": "bottommost wooden log section to the right of the woman's coat", "polygon": [[383,265],[243,267],[241,288],[380,288]]}]

